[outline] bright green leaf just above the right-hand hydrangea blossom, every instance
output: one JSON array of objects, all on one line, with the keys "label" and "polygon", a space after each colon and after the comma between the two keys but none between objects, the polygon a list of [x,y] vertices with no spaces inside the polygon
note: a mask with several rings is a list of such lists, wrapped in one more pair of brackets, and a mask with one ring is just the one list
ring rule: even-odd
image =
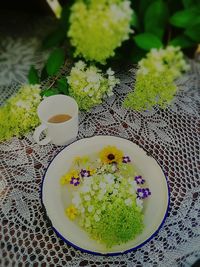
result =
[{"label": "bright green leaf just above the right-hand hydrangea blossom", "polygon": [[151,48],[160,48],[162,42],[160,39],[151,33],[141,33],[134,37],[137,46],[144,50],[150,50]]}]

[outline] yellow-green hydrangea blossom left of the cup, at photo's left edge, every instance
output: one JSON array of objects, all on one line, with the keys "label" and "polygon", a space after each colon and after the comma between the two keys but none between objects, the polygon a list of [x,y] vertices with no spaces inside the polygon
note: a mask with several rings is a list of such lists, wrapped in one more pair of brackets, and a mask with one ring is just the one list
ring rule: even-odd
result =
[{"label": "yellow-green hydrangea blossom left of the cup, at photo's left edge", "polygon": [[0,141],[23,136],[39,124],[37,107],[41,101],[39,85],[23,85],[0,108]]}]

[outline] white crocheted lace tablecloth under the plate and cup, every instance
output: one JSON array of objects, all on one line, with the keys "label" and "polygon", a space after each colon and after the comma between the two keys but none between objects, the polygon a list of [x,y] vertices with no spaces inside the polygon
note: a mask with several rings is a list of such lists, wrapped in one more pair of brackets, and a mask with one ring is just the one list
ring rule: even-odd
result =
[{"label": "white crocheted lace tablecloth under the plate and cup", "polygon": [[[22,49],[22,40],[18,42],[9,42],[10,54],[0,60],[1,103],[17,88],[8,85],[11,81],[25,81],[32,61],[33,46]],[[18,57],[12,70],[13,53]],[[39,197],[45,169],[62,147],[39,146],[29,134],[0,144],[0,266],[176,267],[191,266],[200,258],[200,66],[191,62],[191,71],[177,82],[179,94],[165,111],[123,109],[121,103],[131,90],[133,75],[124,71],[118,76],[121,84],[115,95],[80,114],[78,139],[121,136],[159,162],[171,191],[164,226],[142,248],[121,256],[93,256],[65,244],[46,220]]]}]

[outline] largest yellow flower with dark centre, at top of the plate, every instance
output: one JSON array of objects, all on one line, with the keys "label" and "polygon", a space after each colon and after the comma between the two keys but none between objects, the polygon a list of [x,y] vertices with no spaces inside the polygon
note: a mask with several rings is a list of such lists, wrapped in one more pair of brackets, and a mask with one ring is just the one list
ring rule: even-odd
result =
[{"label": "largest yellow flower with dark centre, at top of the plate", "polygon": [[107,146],[100,152],[100,159],[103,163],[119,163],[122,161],[123,152],[115,146]]}]

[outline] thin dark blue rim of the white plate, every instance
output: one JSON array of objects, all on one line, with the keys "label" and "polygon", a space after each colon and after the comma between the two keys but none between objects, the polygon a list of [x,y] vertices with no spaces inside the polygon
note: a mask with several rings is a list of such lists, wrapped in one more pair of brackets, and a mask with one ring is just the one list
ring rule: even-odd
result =
[{"label": "thin dark blue rim of the white plate", "polygon": [[79,141],[79,140],[83,140],[83,139],[89,139],[89,138],[92,138],[92,137],[95,137],[95,136],[110,136],[110,137],[117,137],[117,138],[121,138],[121,139],[125,139],[127,141],[130,141],[132,142],[131,140],[127,139],[127,138],[124,138],[124,137],[120,137],[120,136],[115,136],[115,135],[93,135],[93,136],[89,136],[89,137],[85,137],[85,138],[80,138],[80,139],[77,139],[75,141],[73,141],[72,143],[64,146],[54,157],[53,159],[49,162],[46,170],[45,170],[45,173],[43,175],[43,178],[42,178],[42,183],[41,183],[41,186],[40,186],[40,199],[41,199],[41,203],[42,203],[42,207],[43,207],[43,210],[45,211],[45,215],[46,215],[46,219],[50,222],[50,225],[51,225],[51,228],[54,230],[54,232],[56,233],[56,235],[61,238],[65,243],[71,245],[72,247],[82,251],[82,252],[85,252],[85,253],[89,253],[89,254],[92,254],[92,255],[96,255],[96,256],[119,256],[119,255],[122,255],[122,254],[127,254],[127,253],[130,253],[132,251],[135,251],[141,247],[143,247],[146,243],[148,243],[150,240],[152,240],[157,234],[158,232],[160,231],[160,229],[162,228],[162,226],[164,225],[165,223],[165,220],[167,219],[167,216],[168,216],[168,212],[169,212],[169,208],[170,208],[170,188],[169,188],[169,184],[168,184],[168,178],[167,178],[167,175],[164,173],[164,171],[162,170],[160,164],[158,163],[158,161],[152,157],[152,155],[150,155],[144,148],[142,148],[140,145],[132,142],[133,144],[136,144],[137,146],[139,146],[141,149],[143,149],[147,155],[151,156],[158,164],[158,166],[160,167],[160,169],[162,170],[164,176],[165,176],[165,179],[166,179],[166,183],[167,183],[167,189],[168,189],[168,203],[167,203],[167,209],[166,209],[166,212],[165,212],[165,215],[163,217],[163,220],[161,222],[161,224],[159,225],[158,229],[148,238],[146,239],[144,242],[142,242],[140,245],[136,246],[136,247],[133,247],[133,248],[130,248],[130,249],[127,249],[125,251],[122,251],[122,252],[113,252],[113,253],[100,253],[100,252],[94,252],[94,251],[91,251],[91,250],[87,250],[87,249],[83,249],[77,245],[75,245],[74,243],[70,242],[69,240],[67,240],[64,236],[62,236],[61,233],[59,233],[57,231],[57,229],[53,226],[52,222],[51,222],[51,219],[48,217],[48,214],[47,214],[47,211],[46,211],[46,208],[45,208],[45,205],[44,205],[44,202],[43,202],[43,184],[44,184],[44,179],[45,179],[45,176],[46,176],[46,173],[47,173],[47,170],[49,169],[49,166],[51,165],[52,161],[58,156],[58,154],[60,154],[66,147],[70,146],[71,144]]}]

